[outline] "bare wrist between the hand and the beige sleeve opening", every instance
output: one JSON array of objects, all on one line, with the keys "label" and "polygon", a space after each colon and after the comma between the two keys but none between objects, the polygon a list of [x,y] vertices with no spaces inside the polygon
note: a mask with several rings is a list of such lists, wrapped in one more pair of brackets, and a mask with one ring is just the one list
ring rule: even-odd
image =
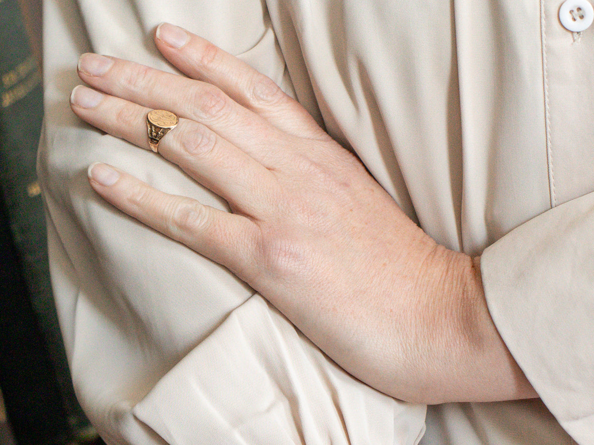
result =
[{"label": "bare wrist between the hand and the beige sleeve opening", "polygon": [[486,304],[480,259],[436,247],[432,291],[419,311],[428,351],[424,403],[535,397],[505,346]]}]

